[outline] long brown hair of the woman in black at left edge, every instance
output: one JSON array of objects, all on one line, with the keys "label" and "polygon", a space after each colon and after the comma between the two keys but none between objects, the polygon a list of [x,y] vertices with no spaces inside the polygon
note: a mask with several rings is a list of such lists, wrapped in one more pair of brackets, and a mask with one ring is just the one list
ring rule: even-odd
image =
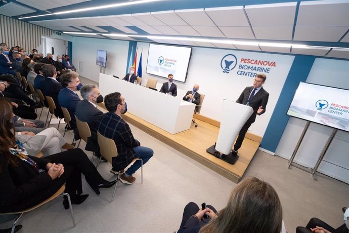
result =
[{"label": "long brown hair of the woman in black at left edge", "polygon": [[7,161],[6,165],[0,164],[0,172],[2,172],[3,166],[16,165],[17,163],[9,150],[9,146],[16,142],[11,102],[0,98],[0,109],[0,156],[4,156]]}]

